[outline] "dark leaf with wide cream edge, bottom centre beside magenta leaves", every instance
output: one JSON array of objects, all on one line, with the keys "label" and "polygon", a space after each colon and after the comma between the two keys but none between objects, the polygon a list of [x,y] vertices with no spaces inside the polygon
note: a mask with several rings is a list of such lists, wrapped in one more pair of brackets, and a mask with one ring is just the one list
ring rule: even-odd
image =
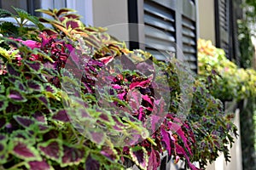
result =
[{"label": "dark leaf with wide cream edge, bottom centre beside magenta leaves", "polygon": [[142,169],[147,169],[148,167],[148,152],[145,148],[141,146],[135,146],[130,148],[131,160],[136,163],[136,165]]}]

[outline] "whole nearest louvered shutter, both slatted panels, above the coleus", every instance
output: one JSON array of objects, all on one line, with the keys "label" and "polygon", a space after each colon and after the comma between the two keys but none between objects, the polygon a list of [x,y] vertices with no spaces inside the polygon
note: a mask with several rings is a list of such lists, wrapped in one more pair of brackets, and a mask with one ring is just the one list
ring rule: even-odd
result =
[{"label": "whole nearest louvered shutter, both slatted panels, above the coleus", "polygon": [[172,52],[197,72],[195,7],[195,0],[144,0],[145,49],[160,60]]}]

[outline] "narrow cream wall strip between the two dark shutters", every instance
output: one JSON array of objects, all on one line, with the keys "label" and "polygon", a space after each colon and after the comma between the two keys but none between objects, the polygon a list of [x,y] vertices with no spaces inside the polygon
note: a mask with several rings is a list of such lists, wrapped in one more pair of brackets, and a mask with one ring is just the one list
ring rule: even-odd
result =
[{"label": "narrow cream wall strip between the two dark shutters", "polygon": [[214,0],[198,0],[199,38],[211,40],[215,45]]}]

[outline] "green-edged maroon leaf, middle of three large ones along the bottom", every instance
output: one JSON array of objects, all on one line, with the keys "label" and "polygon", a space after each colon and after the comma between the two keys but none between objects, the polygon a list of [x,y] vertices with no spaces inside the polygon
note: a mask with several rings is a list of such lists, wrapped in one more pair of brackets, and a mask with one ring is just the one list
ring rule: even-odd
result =
[{"label": "green-edged maroon leaf, middle of three large ones along the bottom", "polygon": [[59,140],[50,139],[45,143],[38,144],[38,150],[47,158],[61,163],[63,147]]}]

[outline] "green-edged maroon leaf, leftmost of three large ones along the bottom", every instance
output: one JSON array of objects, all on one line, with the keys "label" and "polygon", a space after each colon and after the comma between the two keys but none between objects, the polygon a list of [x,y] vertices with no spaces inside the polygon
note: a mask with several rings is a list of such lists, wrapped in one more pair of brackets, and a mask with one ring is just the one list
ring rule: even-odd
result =
[{"label": "green-edged maroon leaf, leftmost of three large ones along the bottom", "polygon": [[38,150],[30,144],[29,141],[23,139],[12,139],[9,143],[11,146],[10,152],[26,161],[42,161]]}]

